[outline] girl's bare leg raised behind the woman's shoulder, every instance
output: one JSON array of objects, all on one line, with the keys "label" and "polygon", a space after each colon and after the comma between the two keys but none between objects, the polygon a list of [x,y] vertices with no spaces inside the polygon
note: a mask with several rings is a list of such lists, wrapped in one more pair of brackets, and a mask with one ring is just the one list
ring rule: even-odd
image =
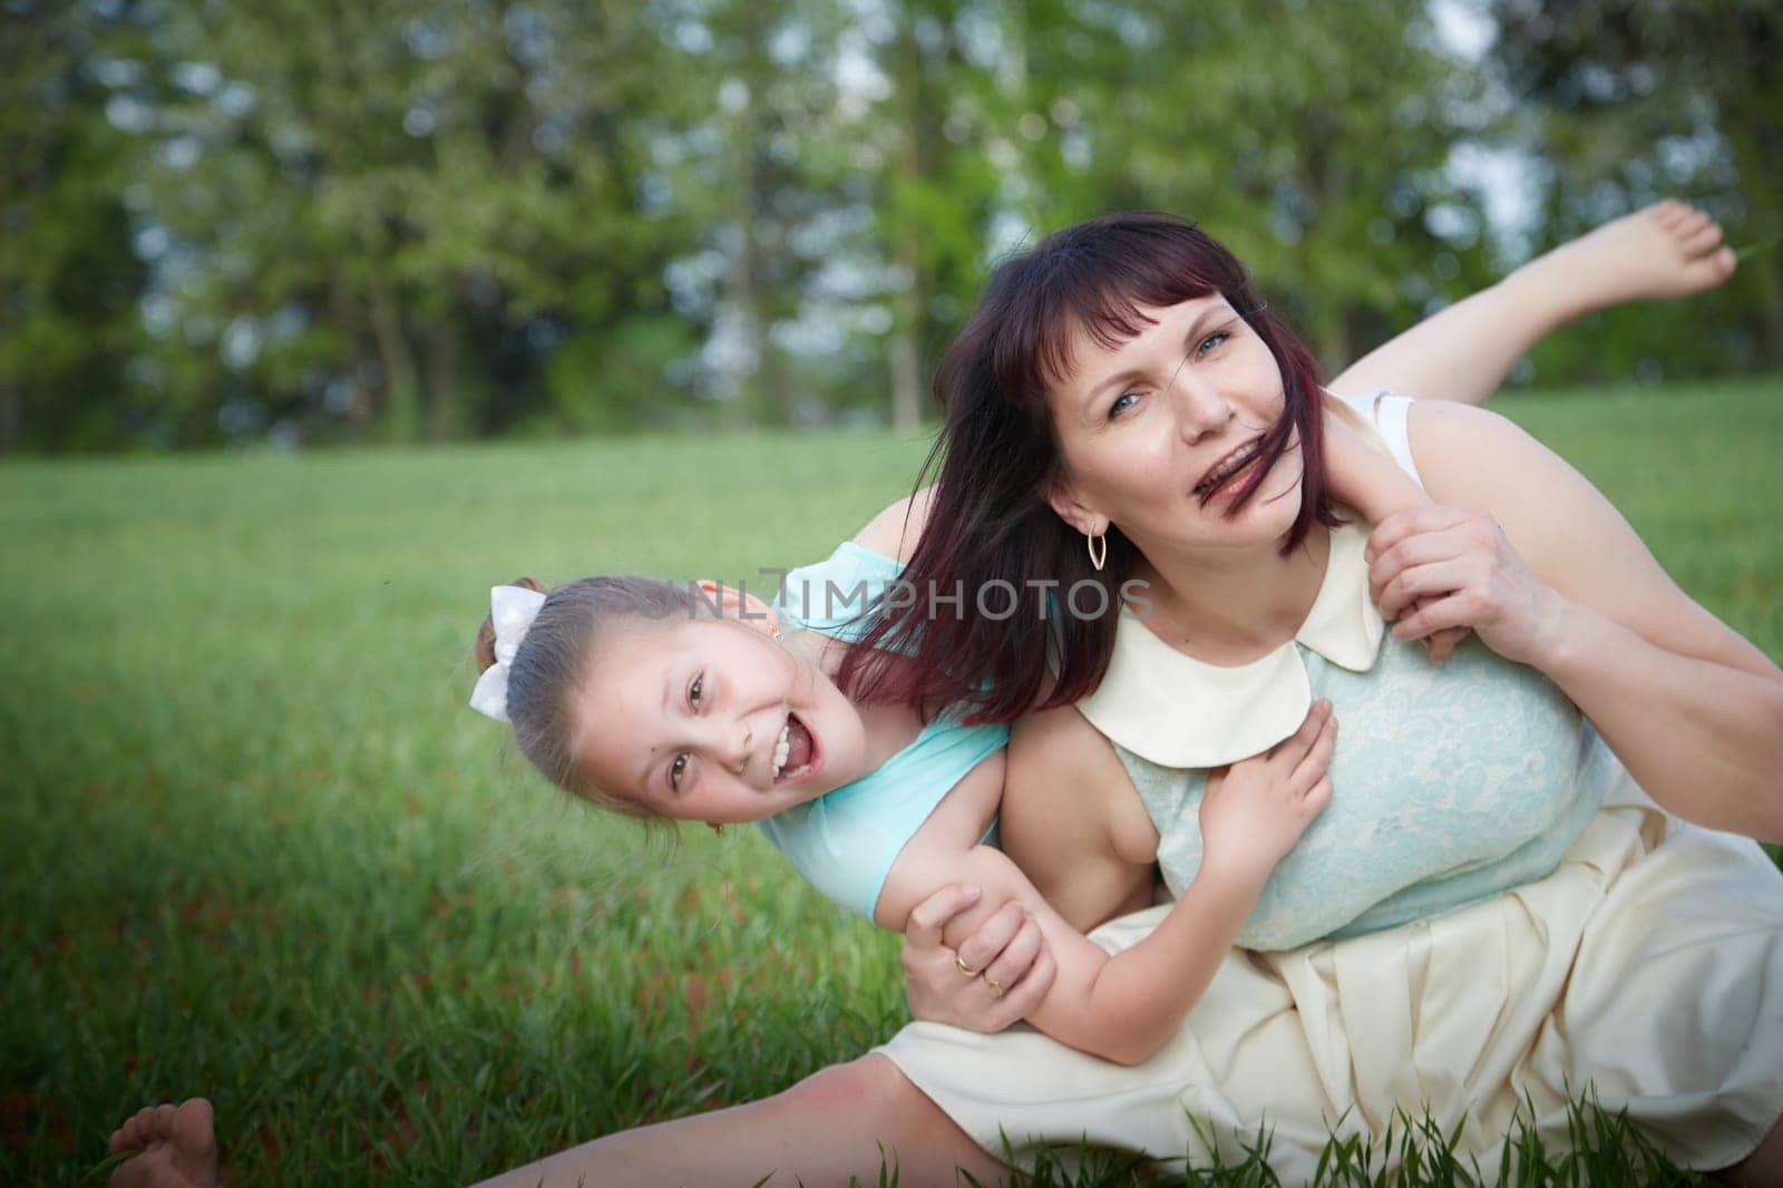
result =
[{"label": "girl's bare leg raised behind the woman's shoulder", "polygon": [[1623,301],[1685,298],[1726,282],[1733,252],[1721,227],[1676,200],[1605,223],[1530,260],[1491,289],[1432,314],[1330,382],[1339,396],[1391,387],[1401,396],[1483,403],[1535,342]]}]

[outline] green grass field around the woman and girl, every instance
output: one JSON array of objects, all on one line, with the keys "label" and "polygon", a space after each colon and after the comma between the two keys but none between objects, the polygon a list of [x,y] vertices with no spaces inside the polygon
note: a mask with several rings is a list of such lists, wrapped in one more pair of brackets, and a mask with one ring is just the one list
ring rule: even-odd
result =
[{"label": "green grass field around the woman and girl", "polygon": [[[1501,408],[1783,658],[1776,384]],[[565,803],[464,708],[464,653],[517,574],[820,557],[922,450],[0,467],[0,1183],[75,1181],[194,1092],[235,1183],[464,1181],[888,1036],[893,936],[754,837],[665,847]]]}]

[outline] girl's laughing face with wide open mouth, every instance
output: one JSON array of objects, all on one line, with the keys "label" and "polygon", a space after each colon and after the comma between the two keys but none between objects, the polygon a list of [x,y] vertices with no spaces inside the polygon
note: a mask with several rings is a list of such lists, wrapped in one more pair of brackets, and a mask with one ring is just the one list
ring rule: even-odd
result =
[{"label": "girl's laughing face with wide open mouth", "polygon": [[615,624],[574,712],[574,755],[606,792],[678,821],[760,821],[867,774],[859,714],[822,640],[768,619]]}]

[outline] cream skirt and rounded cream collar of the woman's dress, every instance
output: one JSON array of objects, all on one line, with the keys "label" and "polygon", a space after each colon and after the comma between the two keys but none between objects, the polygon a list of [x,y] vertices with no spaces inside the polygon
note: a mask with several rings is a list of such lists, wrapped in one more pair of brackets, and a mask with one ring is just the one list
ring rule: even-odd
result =
[{"label": "cream skirt and rounded cream collar of the woman's dress", "polygon": [[[1416,474],[1403,407],[1378,401],[1375,414]],[[1360,549],[1334,544],[1314,615],[1255,665],[1196,672],[1123,619],[1109,676],[1080,708],[1136,774],[1134,756],[1225,762],[1232,738],[1245,749],[1227,758],[1241,758],[1298,726],[1314,696],[1309,658],[1369,671],[1380,633],[1362,606]],[[1161,697],[1171,690],[1177,712]],[[1187,703],[1195,715],[1180,712]],[[1259,733],[1259,722],[1269,726]],[[1262,1126],[1271,1167],[1294,1184],[1332,1134],[1378,1145],[1389,1126],[1403,1133],[1403,1111],[1428,1113],[1444,1134],[1466,1118],[1460,1154],[1491,1179],[1519,1117],[1564,1149],[1567,1106],[1589,1088],[1676,1161],[1737,1163],[1783,1113],[1783,874],[1754,842],[1662,812],[1589,742],[1601,751],[1589,765],[1601,808],[1558,865],[1544,863],[1551,872],[1346,940],[1236,949],[1177,1036],[1138,1067],[1020,1024],[990,1036],[913,1024],[879,1051],[982,1147],[1002,1154],[1007,1134],[1023,1159],[1088,1140],[1196,1163],[1214,1143],[1234,1161]],[[1407,755],[1407,771],[1416,760]],[[1195,813],[1148,810],[1168,878],[1173,835]],[[1353,862],[1368,865],[1371,844]],[[1091,938],[1118,953],[1164,912]],[[1378,1158],[1391,1167],[1396,1156]]]}]

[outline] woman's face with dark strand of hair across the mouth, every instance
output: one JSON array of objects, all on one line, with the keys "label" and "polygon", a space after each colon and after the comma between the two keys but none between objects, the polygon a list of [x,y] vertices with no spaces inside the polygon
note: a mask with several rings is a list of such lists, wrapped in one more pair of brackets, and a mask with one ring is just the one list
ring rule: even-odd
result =
[{"label": "woman's face with dark strand of hair across the mouth", "polygon": [[1048,394],[1066,471],[1054,510],[1086,533],[1113,523],[1146,555],[1280,540],[1300,514],[1298,437],[1227,519],[1284,414],[1275,355],[1218,294],[1139,312],[1152,325],[1114,348],[1079,330],[1075,371]]}]

